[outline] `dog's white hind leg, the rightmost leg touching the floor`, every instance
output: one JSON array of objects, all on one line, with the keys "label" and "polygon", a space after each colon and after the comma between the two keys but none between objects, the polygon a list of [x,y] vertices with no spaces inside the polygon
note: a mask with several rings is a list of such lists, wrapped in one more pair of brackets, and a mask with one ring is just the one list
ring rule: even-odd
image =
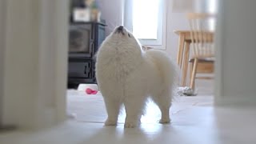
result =
[{"label": "dog's white hind leg, the rightmost leg touching the floor", "polygon": [[160,123],[170,123],[170,106],[171,106],[171,92],[169,90],[162,91],[162,94],[151,97],[158,105],[162,113]]}]

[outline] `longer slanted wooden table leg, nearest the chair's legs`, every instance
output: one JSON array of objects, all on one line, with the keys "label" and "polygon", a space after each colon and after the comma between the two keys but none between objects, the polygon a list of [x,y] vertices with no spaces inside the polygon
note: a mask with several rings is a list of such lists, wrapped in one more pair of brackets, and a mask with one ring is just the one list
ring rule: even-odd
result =
[{"label": "longer slanted wooden table leg, nearest the chair's legs", "polygon": [[182,86],[186,86],[186,76],[190,56],[190,42],[186,42],[185,46],[185,53],[183,55],[184,59],[182,60]]}]

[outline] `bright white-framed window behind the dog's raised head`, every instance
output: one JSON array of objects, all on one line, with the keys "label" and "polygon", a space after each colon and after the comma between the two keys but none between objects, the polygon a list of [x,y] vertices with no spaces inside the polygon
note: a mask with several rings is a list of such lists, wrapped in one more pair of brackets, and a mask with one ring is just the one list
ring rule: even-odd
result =
[{"label": "bright white-framed window behind the dog's raised head", "polygon": [[165,48],[165,0],[126,0],[124,24],[146,46]]}]

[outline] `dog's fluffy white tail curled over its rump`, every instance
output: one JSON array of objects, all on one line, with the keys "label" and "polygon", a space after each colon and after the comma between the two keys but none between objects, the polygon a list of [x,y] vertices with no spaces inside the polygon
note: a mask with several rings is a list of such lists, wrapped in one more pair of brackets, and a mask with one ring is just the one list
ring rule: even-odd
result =
[{"label": "dog's fluffy white tail curled over its rump", "polygon": [[158,69],[162,72],[162,78],[164,85],[167,87],[175,88],[178,86],[179,69],[178,65],[174,63],[174,60],[162,50],[147,50],[145,52],[147,56],[152,58],[152,61],[158,66]]}]

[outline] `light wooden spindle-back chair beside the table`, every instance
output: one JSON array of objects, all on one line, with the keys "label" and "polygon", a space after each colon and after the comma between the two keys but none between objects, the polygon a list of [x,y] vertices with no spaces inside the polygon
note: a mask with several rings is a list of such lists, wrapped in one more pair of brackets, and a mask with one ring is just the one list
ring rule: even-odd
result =
[{"label": "light wooden spindle-back chair beside the table", "polygon": [[214,73],[214,32],[210,30],[210,20],[214,15],[190,13],[186,16],[190,26],[192,51],[189,61],[191,63],[190,88],[194,90],[195,78],[212,78],[198,77],[198,73]]}]

